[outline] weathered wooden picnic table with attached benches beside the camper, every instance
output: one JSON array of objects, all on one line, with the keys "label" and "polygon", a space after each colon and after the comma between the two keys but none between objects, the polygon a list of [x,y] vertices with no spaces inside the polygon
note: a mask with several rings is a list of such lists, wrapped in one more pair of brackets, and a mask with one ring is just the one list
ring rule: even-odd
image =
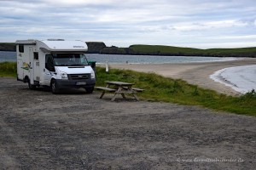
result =
[{"label": "weathered wooden picnic table with attached benches beside the camper", "polygon": [[111,101],[116,99],[117,94],[121,94],[124,99],[126,99],[125,94],[131,94],[137,101],[139,101],[137,97],[137,92],[142,92],[143,89],[140,88],[131,88],[134,83],[129,82],[106,82],[107,86],[106,88],[103,87],[96,87],[96,89],[102,90],[102,95],[100,96],[100,99],[104,96],[104,94],[108,92],[113,92],[113,98]]}]

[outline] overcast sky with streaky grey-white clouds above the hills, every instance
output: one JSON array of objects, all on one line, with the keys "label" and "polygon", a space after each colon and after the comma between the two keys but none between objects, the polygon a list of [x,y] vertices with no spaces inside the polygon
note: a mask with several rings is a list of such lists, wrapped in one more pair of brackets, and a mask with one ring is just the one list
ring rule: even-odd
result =
[{"label": "overcast sky with streaky grey-white clouds above the hills", "polygon": [[256,47],[256,0],[0,0],[0,42]]}]

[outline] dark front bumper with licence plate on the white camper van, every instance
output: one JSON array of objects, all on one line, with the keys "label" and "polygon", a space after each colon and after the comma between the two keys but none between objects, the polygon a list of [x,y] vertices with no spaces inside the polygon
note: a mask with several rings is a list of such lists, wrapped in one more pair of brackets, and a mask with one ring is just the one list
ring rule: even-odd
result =
[{"label": "dark front bumper with licence plate on the white camper van", "polygon": [[86,80],[55,80],[59,88],[92,88],[95,86],[96,79]]}]

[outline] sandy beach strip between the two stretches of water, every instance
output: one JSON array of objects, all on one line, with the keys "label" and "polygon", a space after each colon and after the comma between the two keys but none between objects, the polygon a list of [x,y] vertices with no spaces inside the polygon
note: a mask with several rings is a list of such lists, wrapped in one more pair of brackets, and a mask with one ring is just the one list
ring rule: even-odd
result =
[{"label": "sandy beach strip between the two stretches of water", "polygon": [[201,88],[212,89],[221,94],[239,95],[234,89],[220,82],[214,82],[209,76],[215,71],[241,65],[256,65],[256,59],[246,58],[230,61],[183,64],[109,64],[109,67],[132,71],[154,72],[164,77],[183,79],[190,84],[198,85]]}]

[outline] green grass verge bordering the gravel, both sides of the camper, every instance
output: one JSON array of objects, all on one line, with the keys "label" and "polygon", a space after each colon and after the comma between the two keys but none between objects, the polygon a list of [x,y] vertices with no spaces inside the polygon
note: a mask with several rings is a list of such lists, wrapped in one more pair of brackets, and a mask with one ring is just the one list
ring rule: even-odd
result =
[{"label": "green grass verge bordering the gravel, both sides of the camper", "polygon": [[[16,63],[0,63],[0,77],[16,77]],[[96,68],[96,86],[106,86],[106,81],[132,82],[134,87],[146,89],[140,99],[164,101],[182,105],[201,105],[217,111],[228,111],[241,115],[256,116],[256,93],[239,97],[217,94],[182,80],[161,77],[154,73]]]}]

